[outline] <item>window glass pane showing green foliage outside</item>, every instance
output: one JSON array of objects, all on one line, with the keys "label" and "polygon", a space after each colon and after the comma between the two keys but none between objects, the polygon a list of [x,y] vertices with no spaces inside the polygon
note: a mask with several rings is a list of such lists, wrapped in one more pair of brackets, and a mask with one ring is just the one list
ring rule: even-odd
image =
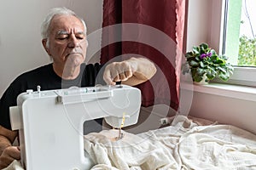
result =
[{"label": "window glass pane showing green foliage outside", "polygon": [[223,53],[232,65],[256,67],[256,1],[226,0]]}]

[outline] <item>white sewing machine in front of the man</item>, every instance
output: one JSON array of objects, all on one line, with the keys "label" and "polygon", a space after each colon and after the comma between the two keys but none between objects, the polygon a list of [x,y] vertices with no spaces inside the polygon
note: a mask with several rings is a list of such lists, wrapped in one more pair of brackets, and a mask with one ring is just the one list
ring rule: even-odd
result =
[{"label": "white sewing machine in front of the man", "polygon": [[104,117],[113,127],[126,127],[137,123],[140,105],[140,90],[125,85],[27,90],[18,96],[17,106],[10,107],[12,129],[20,133],[23,167],[90,169],[83,123]]}]

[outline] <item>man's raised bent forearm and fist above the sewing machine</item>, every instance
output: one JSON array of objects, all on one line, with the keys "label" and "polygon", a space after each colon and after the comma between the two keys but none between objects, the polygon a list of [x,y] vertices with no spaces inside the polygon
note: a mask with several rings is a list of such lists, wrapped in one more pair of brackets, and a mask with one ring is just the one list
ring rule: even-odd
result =
[{"label": "man's raised bent forearm and fist above the sewing machine", "polygon": [[105,82],[111,85],[122,81],[126,85],[135,86],[149,80],[155,72],[154,63],[148,59],[131,58],[107,65],[103,78]]}]

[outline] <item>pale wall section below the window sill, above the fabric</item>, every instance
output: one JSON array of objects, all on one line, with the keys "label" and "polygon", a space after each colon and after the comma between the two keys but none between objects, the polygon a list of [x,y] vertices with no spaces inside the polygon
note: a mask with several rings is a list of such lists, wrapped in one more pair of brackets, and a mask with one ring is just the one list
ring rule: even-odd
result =
[{"label": "pale wall section below the window sill, above the fabric", "polygon": [[190,116],[241,127],[256,134],[255,100],[194,92]]}]

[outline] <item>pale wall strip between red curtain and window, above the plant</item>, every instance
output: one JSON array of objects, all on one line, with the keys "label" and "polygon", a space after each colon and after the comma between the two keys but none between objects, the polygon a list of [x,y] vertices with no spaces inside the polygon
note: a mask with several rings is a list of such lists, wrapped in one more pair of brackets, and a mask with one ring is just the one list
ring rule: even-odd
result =
[{"label": "pale wall strip between red curtain and window, above the plant", "polygon": [[222,39],[218,35],[223,25],[219,23],[222,4],[223,0],[189,0],[187,50],[201,42],[207,42],[217,52],[221,50]]}]

